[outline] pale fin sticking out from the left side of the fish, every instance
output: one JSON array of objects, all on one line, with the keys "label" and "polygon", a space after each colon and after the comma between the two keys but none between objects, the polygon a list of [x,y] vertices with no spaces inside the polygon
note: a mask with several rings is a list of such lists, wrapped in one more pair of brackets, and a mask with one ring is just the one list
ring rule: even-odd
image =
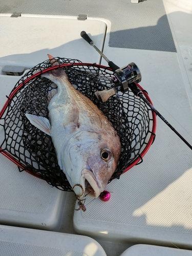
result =
[{"label": "pale fin sticking out from the left side of the fish", "polygon": [[51,136],[51,124],[46,117],[25,114],[30,123],[37,127],[40,131]]}]

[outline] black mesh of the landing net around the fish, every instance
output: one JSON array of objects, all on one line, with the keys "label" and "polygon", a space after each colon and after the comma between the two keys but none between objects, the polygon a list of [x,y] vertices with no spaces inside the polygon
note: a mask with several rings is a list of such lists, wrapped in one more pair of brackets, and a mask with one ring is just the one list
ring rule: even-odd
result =
[{"label": "black mesh of the landing net around the fish", "polygon": [[[119,94],[119,97],[114,95],[101,103],[94,92],[111,87],[110,79],[113,72],[109,68],[85,65],[73,59],[56,59],[61,66],[69,63],[63,69],[73,86],[89,97],[116,129],[122,150],[117,169],[110,181],[119,178],[127,166],[140,156],[152,135],[151,109],[131,91]],[[78,66],[75,63],[79,63]],[[56,86],[47,78],[40,75],[32,78],[32,75],[50,66],[49,60],[40,63],[26,73],[13,88],[2,117],[5,138],[1,148],[23,163],[32,174],[61,190],[72,191],[57,163],[51,137],[34,127],[25,116],[25,113],[30,113],[48,118],[48,92]]]}]

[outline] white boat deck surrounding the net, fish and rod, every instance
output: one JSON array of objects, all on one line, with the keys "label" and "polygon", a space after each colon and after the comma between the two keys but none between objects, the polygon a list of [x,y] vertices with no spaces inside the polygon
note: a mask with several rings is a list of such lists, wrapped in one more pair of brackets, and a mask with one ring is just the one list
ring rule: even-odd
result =
[{"label": "white boat deck surrounding the net, fish and rod", "polygon": [[[16,67],[26,73],[48,53],[108,66],[86,31],[119,67],[136,63],[155,108],[192,145],[192,1],[136,2],[3,0],[0,109],[22,77]],[[3,256],[192,255],[192,152],[159,117],[143,162],[107,185],[108,202],[87,198],[84,212],[73,192],[18,172],[3,154],[0,162]]]}]

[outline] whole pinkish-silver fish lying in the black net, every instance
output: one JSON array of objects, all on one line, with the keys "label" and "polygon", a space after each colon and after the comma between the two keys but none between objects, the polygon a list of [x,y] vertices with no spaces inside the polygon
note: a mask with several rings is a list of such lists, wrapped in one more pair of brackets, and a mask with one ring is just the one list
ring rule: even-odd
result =
[{"label": "whole pinkish-silver fish lying in the black net", "polygon": [[[59,62],[49,55],[52,66]],[[60,169],[76,197],[99,197],[115,172],[121,142],[112,123],[76,90],[62,68],[41,74],[54,82],[48,95],[49,119],[25,113],[30,123],[51,136]]]}]

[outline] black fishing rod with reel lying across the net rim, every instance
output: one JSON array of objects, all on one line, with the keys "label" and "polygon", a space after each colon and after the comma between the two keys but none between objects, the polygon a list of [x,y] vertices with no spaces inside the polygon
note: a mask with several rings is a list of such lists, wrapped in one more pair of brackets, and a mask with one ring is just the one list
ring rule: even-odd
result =
[{"label": "black fishing rod with reel lying across the net rim", "polygon": [[130,90],[137,97],[141,98],[150,108],[156,113],[157,116],[163,120],[164,123],[175,133],[177,136],[192,150],[192,146],[178,133],[175,128],[170,125],[170,123],[154,108],[154,106],[144,97],[143,92],[137,86],[137,83],[141,81],[141,72],[137,65],[134,62],[129,63],[129,65],[119,68],[113,61],[110,61],[95,45],[93,40],[88,36],[85,31],[81,31],[81,37],[86,40],[91,46],[95,48],[95,50],[108,62],[109,67],[114,72],[114,76],[111,80],[110,89],[106,89],[103,91],[95,92],[95,95],[98,100],[105,102],[112,95],[118,93],[118,91],[125,93]]}]

